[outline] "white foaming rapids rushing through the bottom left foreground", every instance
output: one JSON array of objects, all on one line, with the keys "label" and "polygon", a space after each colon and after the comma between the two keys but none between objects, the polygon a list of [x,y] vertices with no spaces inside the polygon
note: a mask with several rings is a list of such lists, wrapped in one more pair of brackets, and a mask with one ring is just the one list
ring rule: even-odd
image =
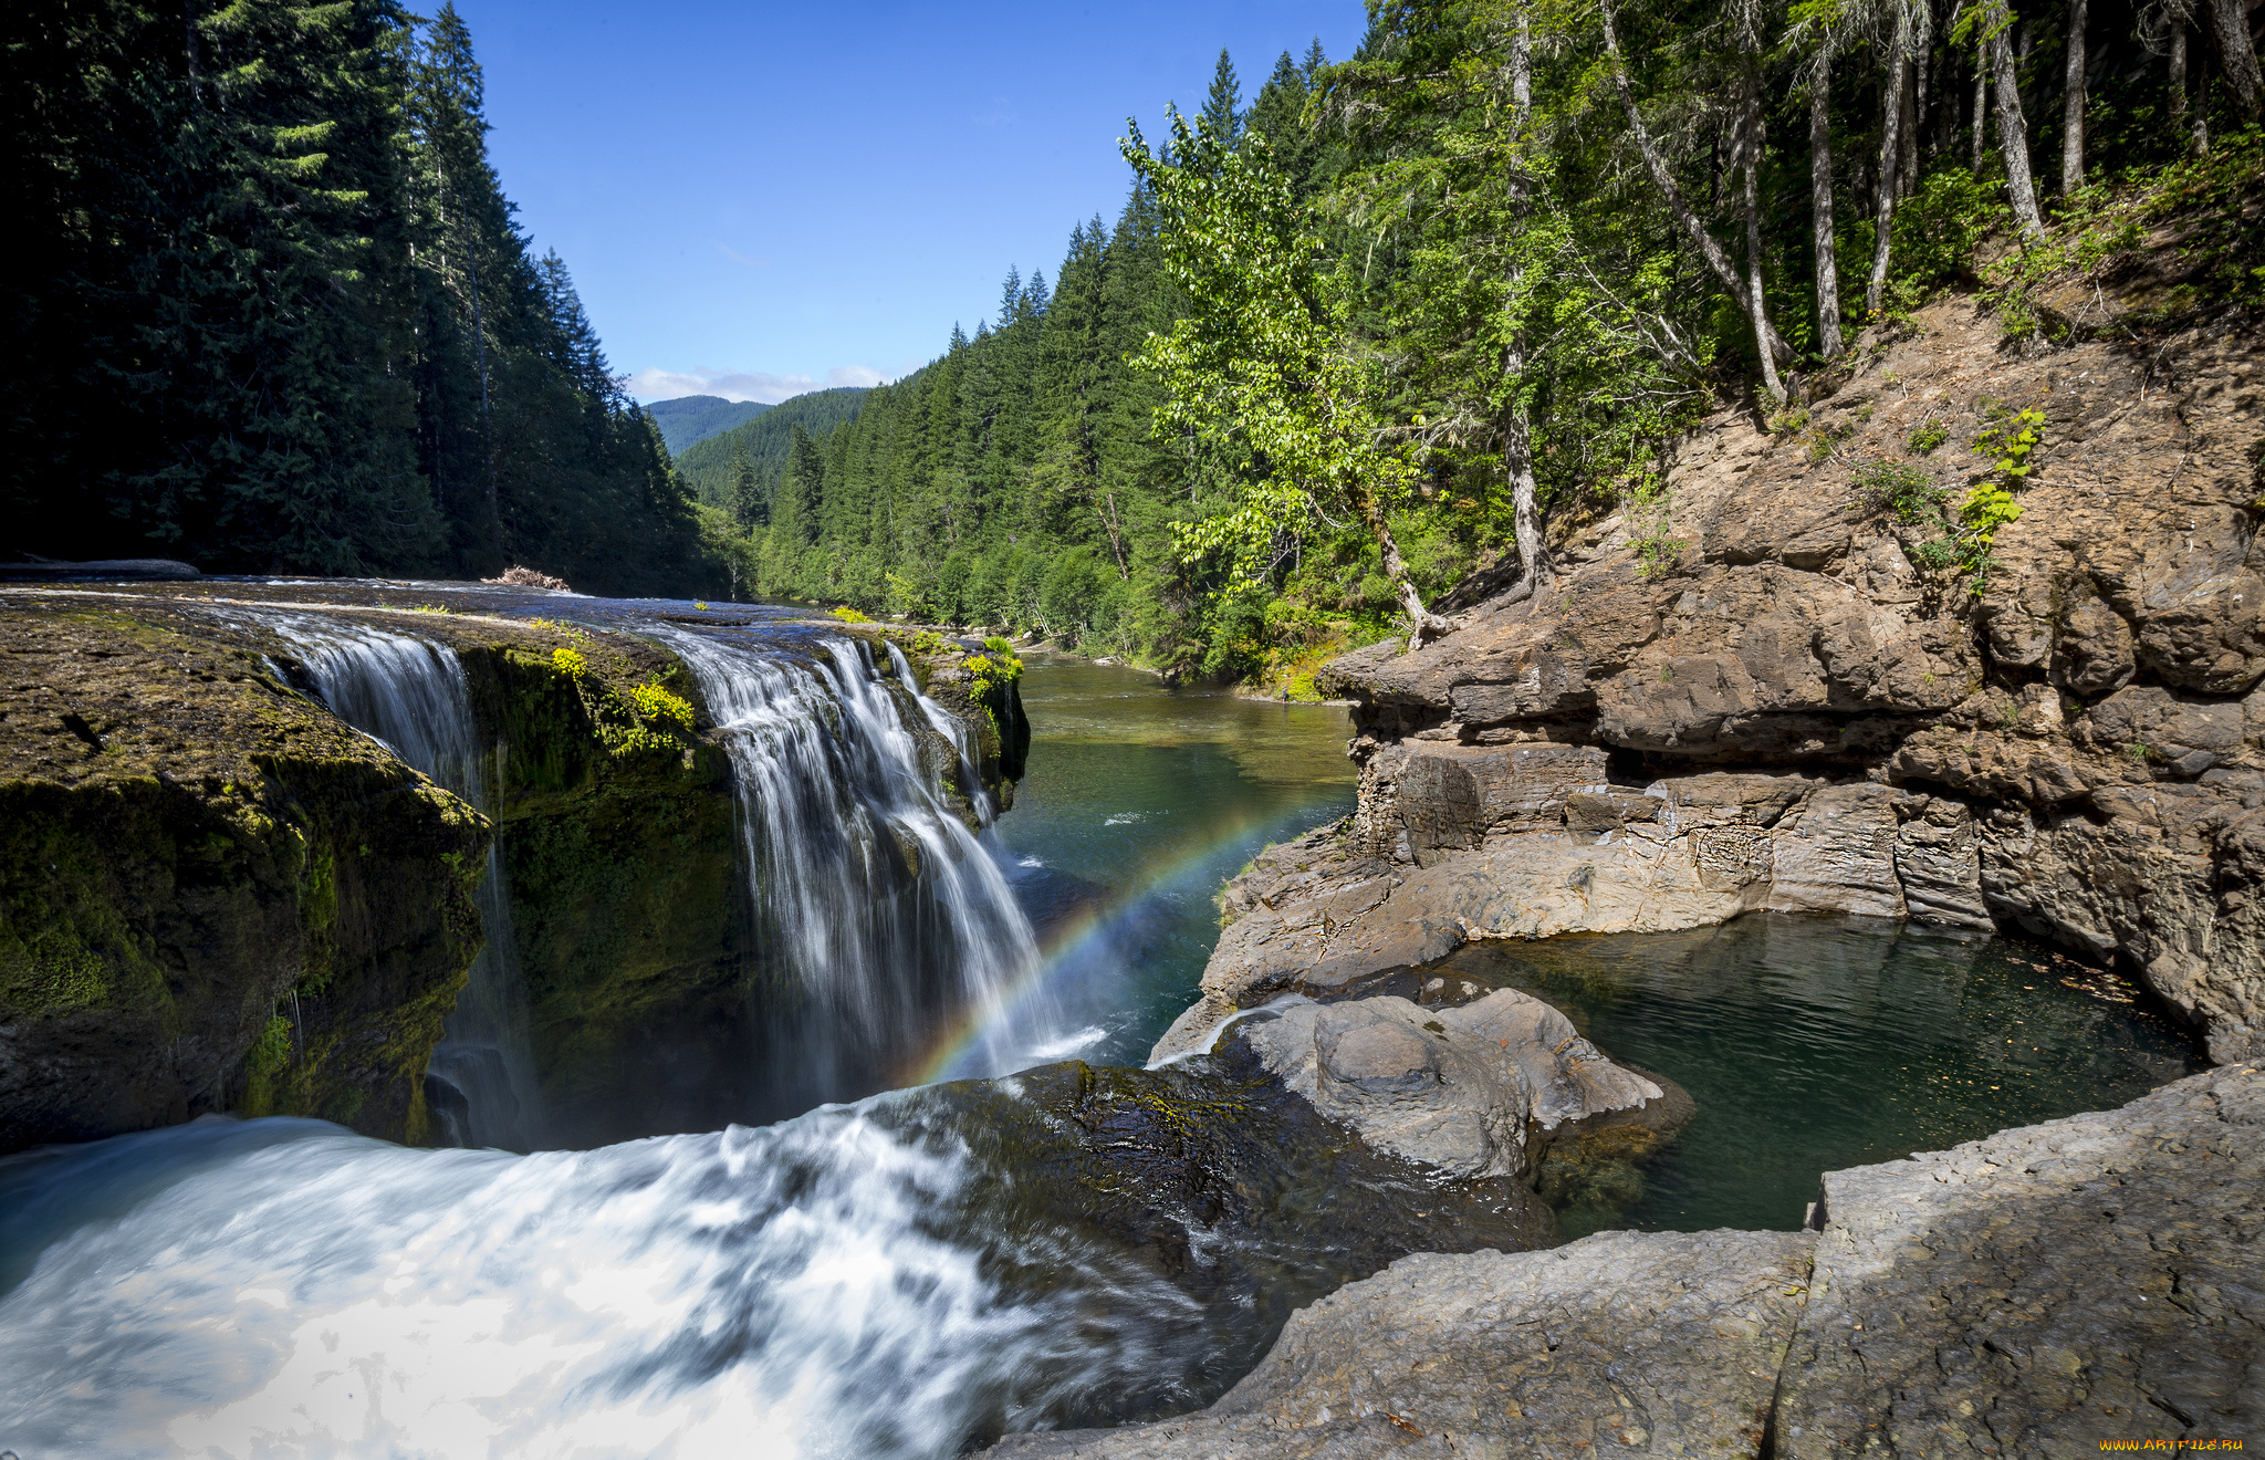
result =
[{"label": "white foaming rapids rushing through the bottom left foreground", "polygon": [[947,1460],[1171,1367],[1198,1306],[978,1218],[1003,1175],[872,1118],[904,1098],[528,1157],[208,1118],[0,1159],[0,1442]]}]

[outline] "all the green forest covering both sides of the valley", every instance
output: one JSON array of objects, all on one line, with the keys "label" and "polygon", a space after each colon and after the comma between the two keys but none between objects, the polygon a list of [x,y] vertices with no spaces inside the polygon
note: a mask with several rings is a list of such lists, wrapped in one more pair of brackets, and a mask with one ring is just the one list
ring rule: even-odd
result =
[{"label": "all the green forest covering both sides of the valley", "polygon": [[[1370,0],[1228,54],[1114,217],[872,392],[670,460],[487,161],[462,18],[11,11],[11,548],[206,570],[788,595],[1309,693],[1547,579],[1708,412],[1803,430],[1848,351],[2170,235],[2265,308],[2247,0]],[[1128,97],[1128,104],[1151,97]],[[2154,240],[2154,242],[2149,242]],[[682,437],[680,437],[682,439]],[[1989,514],[1966,503],[1971,555]],[[1975,559],[1980,561],[1980,557]]]}]

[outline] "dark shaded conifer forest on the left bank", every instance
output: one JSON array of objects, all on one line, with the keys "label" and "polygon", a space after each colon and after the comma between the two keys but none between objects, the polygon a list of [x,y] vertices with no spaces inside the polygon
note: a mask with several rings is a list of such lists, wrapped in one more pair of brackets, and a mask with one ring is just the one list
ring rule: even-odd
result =
[{"label": "dark shaded conifer forest on the left bank", "polygon": [[698,591],[652,421],[487,161],[453,7],[11,7],[11,546]]}]

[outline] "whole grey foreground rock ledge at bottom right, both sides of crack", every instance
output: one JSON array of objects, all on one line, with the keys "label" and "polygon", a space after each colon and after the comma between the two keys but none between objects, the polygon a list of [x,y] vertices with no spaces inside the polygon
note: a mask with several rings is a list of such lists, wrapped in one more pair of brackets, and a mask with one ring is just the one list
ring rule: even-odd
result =
[{"label": "whole grey foreground rock ledge at bottom right, both sides of crack", "polygon": [[1830,1173],[1821,1231],[1418,1254],[1212,1408],[1001,1460],[2093,1455],[2265,1424],[2265,1073]]}]

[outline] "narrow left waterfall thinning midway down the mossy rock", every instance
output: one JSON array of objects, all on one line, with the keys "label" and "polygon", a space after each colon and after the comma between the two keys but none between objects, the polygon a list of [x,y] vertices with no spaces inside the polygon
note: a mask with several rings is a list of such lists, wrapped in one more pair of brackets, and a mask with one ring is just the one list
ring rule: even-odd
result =
[{"label": "narrow left waterfall thinning midway down the mossy rock", "polygon": [[[482,813],[489,810],[485,756],[455,650],[304,613],[263,613],[260,622],[299,650],[331,713]],[[541,1096],[496,842],[487,844],[487,876],[480,878],[476,903],[487,946],[473,960],[471,978],[433,1050],[426,1091],[448,1143],[532,1150],[541,1141]]]}]

